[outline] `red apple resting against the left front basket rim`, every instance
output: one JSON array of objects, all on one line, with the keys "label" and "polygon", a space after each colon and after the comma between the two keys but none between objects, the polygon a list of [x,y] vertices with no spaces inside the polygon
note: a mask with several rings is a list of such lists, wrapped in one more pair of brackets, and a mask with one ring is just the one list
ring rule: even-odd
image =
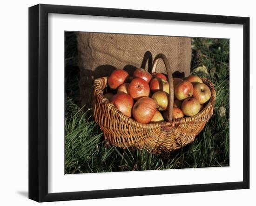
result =
[{"label": "red apple resting against the left front basket rim", "polygon": [[126,116],[128,117],[132,116],[132,108],[134,105],[134,100],[131,98],[129,94],[126,94],[126,93],[115,94],[111,98],[110,103],[114,104],[115,107]]}]

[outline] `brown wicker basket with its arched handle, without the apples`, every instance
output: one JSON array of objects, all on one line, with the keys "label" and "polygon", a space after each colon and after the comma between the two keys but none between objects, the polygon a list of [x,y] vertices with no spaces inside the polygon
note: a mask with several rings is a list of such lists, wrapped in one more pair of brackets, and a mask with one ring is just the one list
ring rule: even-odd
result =
[{"label": "brown wicker basket with its arched handle, without the apples", "polygon": [[209,86],[211,98],[207,105],[195,116],[179,119],[172,118],[174,88],[170,66],[163,54],[158,54],[153,61],[152,72],[155,72],[158,60],[164,61],[169,81],[168,122],[141,124],[121,113],[103,96],[103,89],[107,86],[108,77],[94,80],[94,119],[101,127],[105,140],[113,146],[123,148],[135,147],[147,149],[152,153],[171,152],[195,140],[206,122],[211,118],[216,102],[216,90],[213,83],[201,78]]}]

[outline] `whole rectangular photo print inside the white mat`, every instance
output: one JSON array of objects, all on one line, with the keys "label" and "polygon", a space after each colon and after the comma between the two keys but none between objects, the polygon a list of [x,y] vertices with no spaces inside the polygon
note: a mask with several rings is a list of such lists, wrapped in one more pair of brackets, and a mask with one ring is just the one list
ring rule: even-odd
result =
[{"label": "whole rectangular photo print inside the white mat", "polygon": [[65,174],[229,166],[229,39],[65,32]]}]

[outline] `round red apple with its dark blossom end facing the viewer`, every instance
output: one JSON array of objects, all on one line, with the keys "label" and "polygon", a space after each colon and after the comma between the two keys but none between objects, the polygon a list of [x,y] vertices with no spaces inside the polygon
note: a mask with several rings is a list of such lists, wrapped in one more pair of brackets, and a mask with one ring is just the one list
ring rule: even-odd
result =
[{"label": "round red apple with its dark blossom end facing the viewer", "polygon": [[128,94],[134,99],[139,100],[141,97],[148,97],[150,88],[148,82],[141,78],[135,78],[128,86]]}]

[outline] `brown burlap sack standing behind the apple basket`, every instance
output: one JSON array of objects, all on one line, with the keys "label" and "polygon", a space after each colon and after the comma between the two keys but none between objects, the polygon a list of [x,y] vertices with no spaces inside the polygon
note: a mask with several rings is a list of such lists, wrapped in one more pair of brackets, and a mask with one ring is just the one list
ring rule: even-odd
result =
[{"label": "brown burlap sack standing behind the apple basket", "polygon": [[[151,53],[154,59],[156,54],[163,53],[173,73],[178,76],[190,73],[190,38],[81,32],[77,33],[77,42],[82,106],[92,102],[94,79],[109,76],[115,69],[125,69],[131,75],[141,67],[145,54]],[[162,62],[156,71],[166,73]]]}]

